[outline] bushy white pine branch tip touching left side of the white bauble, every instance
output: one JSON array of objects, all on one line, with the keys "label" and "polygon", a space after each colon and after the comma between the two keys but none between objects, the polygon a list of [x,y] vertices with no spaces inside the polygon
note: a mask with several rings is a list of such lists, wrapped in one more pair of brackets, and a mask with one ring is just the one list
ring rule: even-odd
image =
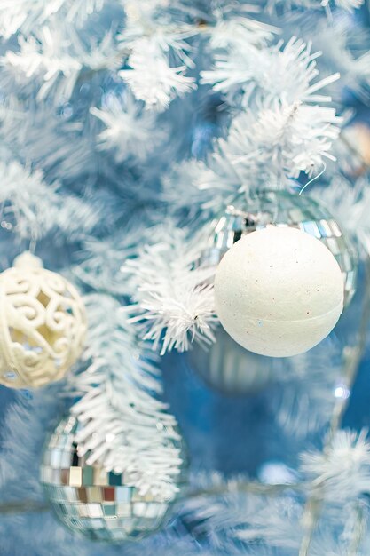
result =
[{"label": "bushy white pine branch tip touching left side of the white bauble", "polygon": [[[188,350],[193,341],[214,341],[216,326],[213,268],[194,268],[201,255],[200,238],[189,240],[183,230],[161,227],[161,241],[146,245],[138,258],[122,267],[130,279],[131,322],[138,323],[144,339],[172,349]],[[204,248],[204,243],[203,243]]]}]

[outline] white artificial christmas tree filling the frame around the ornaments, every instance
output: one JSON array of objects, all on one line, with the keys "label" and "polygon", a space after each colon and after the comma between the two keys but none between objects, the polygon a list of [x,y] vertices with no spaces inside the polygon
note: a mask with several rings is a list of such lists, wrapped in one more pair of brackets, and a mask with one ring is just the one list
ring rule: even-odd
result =
[{"label": "white artificial christmas tree filling the frame around the ornaments", "polygon": [[[83,356],[63,382],[0,386],[2,555],[367,556],[370,441],[366,428],[342,425],[369,309],[368,23],[361,0],[0,1],[2,270],[34,251],[75,282],[88,322]],[[225,343],[219,259],[207,258],[220,250],[225,214],[253,229],[266,223],[268,210],[256,210],[265,190],[269,223],[292,224],[276,201],[287,193],[298,207],[312,203],[313,222],[325,224],[328,210],[354,246],[343,255],[327,241],[348,258],[342,329],[268,362]],[[233,399],[212,398],[201,379],[192,386],[205,365],[224,375],[256,368],[235,406],[261,404],[271,428],[249,431],[250,450],[259,436],[273,444],[280,435],[284,463],[272,449],[258,472],[223,473],[216,433],[195,406],[224,399],[232,414]],[[169,382],[178,374],[195,390],[184,393],[195,460],[185,485],[182,385],[169,407],[169,366]],[[84,465],[124,477],[142,504],[137,518],[149,501],[171,504],[170,522],[140,543],[103,547],[54,520],[41,452],[66,414],[78,422]],[[248,451],[227,418],[224,451]]]}]

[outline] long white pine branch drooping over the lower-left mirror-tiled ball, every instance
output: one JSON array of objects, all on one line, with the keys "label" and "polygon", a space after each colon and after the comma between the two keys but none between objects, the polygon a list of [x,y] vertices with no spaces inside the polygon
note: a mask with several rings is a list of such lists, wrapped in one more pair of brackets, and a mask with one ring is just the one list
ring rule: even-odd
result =
[{"label": "long white pine branch drooping over the lower-left mirror-tiled ball", "polygon": [[161,392],[154,353],[140,343],[120,304],[107,295],[85,298],[90,324],[88,369],[72,377],[70,388],[82,394],[72,413],[83,424],[80,453],[87,464],[125,473],[142,495],[170,499],[182,463],[176,444],[176,420],[157,400]]}]

